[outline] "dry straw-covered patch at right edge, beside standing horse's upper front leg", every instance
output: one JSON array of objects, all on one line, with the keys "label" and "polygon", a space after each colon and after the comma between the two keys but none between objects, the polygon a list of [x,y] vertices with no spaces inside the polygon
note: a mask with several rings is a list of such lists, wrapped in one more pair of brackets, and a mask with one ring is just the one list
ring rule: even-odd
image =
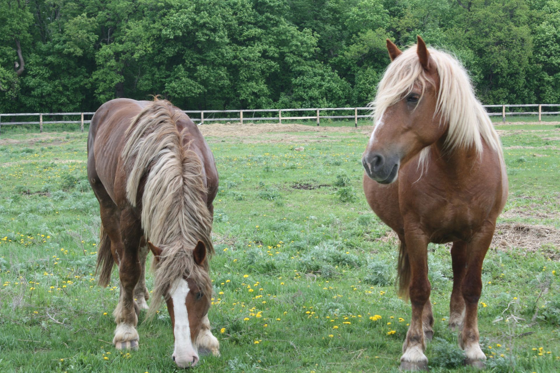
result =
[{"label": "dry straw-covered patch at right edge, beside standing horse's upper front leg", "polygon": [[545,225],[500,223],[496,225],[491,247],[497,247],[498,250],[514,247],[529,251],[543,249],[548,257],[560,259],[560,230]]}]

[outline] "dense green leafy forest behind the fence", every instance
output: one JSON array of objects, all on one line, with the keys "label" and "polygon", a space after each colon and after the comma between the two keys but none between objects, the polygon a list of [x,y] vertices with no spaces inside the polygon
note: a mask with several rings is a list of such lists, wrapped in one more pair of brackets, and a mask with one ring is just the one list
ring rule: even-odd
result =
[{"label": "dense green leafy forest behind the fence", "polygon": [[559,0],[1,0],[0,112],[363,106],[416,35],[483,103],[560,101]]}]

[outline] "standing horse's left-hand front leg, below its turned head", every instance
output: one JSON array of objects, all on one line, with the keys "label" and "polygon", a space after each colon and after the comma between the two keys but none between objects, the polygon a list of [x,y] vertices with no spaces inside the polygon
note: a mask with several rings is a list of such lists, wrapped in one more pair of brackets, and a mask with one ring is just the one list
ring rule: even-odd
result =
[{"label": "standing horse's left-hand front leg, below its turned head", "polygon": [[[419,230],[405,229],[405,240],[410,263],[409,296],[412,305],[412,318],[408,328],[407,339],[403,344],[403,356],[400,357],[401,370],[427,370],[428,358],[424,355],[424,308],[430,299],[430,281],[428,280],[428,240]],[[427,312],[431,311],[431,308]],[[431,314],[431,312],[430,312]]]}]

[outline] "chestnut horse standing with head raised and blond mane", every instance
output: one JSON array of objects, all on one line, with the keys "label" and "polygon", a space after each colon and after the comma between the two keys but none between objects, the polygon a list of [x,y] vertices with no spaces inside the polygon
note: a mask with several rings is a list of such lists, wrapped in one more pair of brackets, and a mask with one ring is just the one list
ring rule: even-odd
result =
[{"label": "chestnut horse standing with head raised and blond mane", "polygon": [[477,306],[482,261],[507,198],[500,139],[456,59],[427,49],[421,37],[404,52],[390,40],[387,48],[393,62],[374,101],[363,188],[400,239],[400,293],[412,304],[400,369],[427,369],[430,242],[453,243],[449,326],[460,330],[465,363],[484,367]]}]

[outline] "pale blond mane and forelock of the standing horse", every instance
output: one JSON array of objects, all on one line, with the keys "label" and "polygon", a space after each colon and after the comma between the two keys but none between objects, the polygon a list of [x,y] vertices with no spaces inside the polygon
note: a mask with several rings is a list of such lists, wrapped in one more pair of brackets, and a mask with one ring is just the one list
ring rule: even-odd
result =
[{"label": "pale blond mane and forelock of the standing horse", "polygon": [[[414,83],[419,83],[422,91],[427,83],[433,83],[424,72],[416,51],[416,44],[410,46],[386,69],[377,87],[375,100],[371,103],[374,107],[374,123],[389,106],[410,93]],[[449,125],[446,150],[474,147],[480,155],[484,141],[502,159],[500,138],[486,110],[475,96],[466,70],[450,54],[432,48],[428,51],[440,78],[434,115],[441,114],[442,122]],[[429,148],[422,150],[419,165],[426,162]]]}]

